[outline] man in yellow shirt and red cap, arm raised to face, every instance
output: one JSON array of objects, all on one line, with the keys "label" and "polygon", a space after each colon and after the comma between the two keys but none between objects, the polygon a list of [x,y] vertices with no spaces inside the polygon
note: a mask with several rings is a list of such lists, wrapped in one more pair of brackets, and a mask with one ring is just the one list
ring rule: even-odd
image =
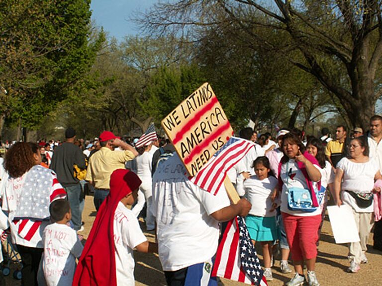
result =
[{"label": "man in yellow shirt and red cap, arm raised to face", "polygon": [[[138,155],[135,148],[123,142],[110,131],[99,135],[101,148],[89,159],[86,180],[95,187],[94,205],[98,211],[103,200],[109,194],[110,175],[116,169],[125,169],[125,162]],[[122,151],[114,151],[119,147]]]}]

